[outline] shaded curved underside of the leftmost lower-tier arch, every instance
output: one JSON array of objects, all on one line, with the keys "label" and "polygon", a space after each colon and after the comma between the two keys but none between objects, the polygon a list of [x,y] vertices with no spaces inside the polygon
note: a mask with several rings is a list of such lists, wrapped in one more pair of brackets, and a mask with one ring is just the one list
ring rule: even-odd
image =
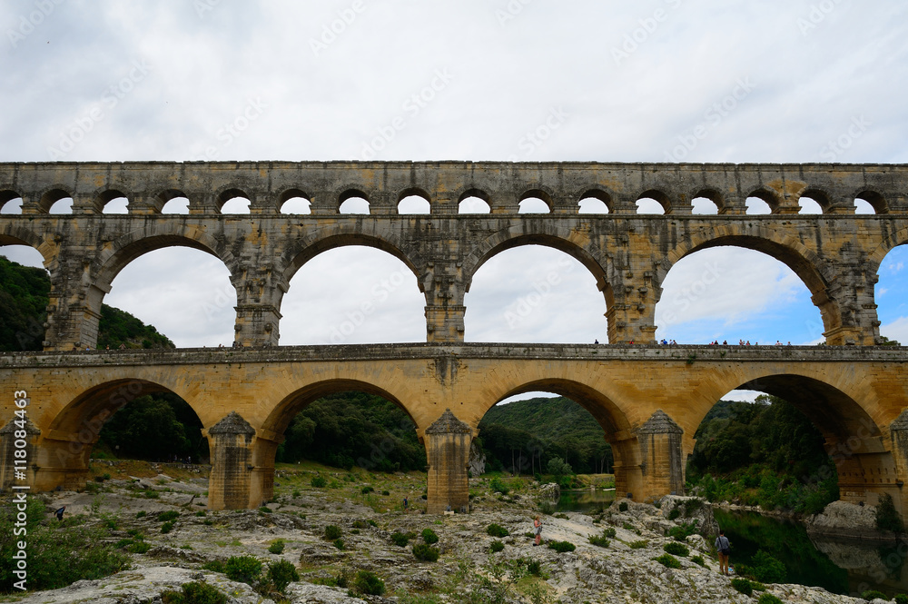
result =
[{"label": "shaded curved underside of the leftmost lower-tier arch", "polygon": [[157,392],[170,392],[189,404],[200,418],[191,399],[158,381],[118,378],[95,384],[82,391],[56,412],[37,441],[35,489],[84,488],[92,449],[104,423],[116,411],[136,399]]}]

